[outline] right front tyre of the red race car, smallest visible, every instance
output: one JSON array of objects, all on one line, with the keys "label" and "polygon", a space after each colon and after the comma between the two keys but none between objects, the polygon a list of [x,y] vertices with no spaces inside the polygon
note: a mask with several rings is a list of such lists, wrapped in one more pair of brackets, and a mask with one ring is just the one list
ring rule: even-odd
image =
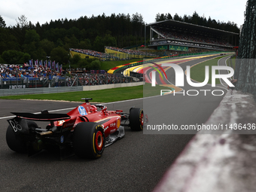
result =
[{"label": "right front tyre of the red race car, smallest visible", "polygon": [[131,130],[143,130],[144,114],[142,108],[130,108],[129,120]]}]

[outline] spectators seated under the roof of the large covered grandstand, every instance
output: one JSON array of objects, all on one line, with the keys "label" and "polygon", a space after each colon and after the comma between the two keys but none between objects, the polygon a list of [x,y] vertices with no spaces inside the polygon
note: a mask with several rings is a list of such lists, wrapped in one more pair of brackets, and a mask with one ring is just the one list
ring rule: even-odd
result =
[{"label": "spectators seated under the roof of the large covered grandstand", "polygon": [[174,40],[184,40],[184,41],[194,41],[198,43],[203,43],[203,44],[213,44],[213,45],[218,45],[218,46],[231,46],[227,41],[223,41],[219,39],[218,37],[210,37],[206,35],[199,35],[199,34],[193,34],[193,35],[188,35],[185,32],[174,32],[170,30],[163,30],[163,29],[154,29],[157,32],[159,32],[160,38],[163,39],[174,39]]}]

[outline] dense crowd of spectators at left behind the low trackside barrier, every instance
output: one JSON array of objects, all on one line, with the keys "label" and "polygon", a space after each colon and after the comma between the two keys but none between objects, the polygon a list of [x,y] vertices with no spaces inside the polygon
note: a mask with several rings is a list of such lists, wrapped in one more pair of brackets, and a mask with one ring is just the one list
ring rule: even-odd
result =
[{"label": "dense crowd of spectators at left behind the low trackside barrier", "polygon": [[23,83],[28,83],[29,81],[26,81],[28,78],[37,78],[40,81],[48,79],[49,81],[47,81],[47,84],[51,83],[53,87],[119,84],[130,82],[130,78],[123,78],[120,75],[111,75],[106,72],[103,74],[93,74],[90,72],[72,73],[71,75],[65,76],[53,69],[47,69],[45,66],[31,67],[27,63],[24,63],[23,65],[0,64],[0,84],[3,81],[8,81],[10,79],[16,81],[17,78],[23,79],[23,81],[21,81]]}]

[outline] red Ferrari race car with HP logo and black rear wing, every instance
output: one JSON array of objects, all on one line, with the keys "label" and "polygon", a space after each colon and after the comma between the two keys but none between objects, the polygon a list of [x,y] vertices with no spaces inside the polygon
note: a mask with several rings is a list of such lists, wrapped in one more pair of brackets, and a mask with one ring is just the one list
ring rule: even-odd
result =
[{"label": "red Ferrari race car with HP logo and black rear wing", "polygon": [[[104,148],[124,136],[124,124],[129,121],[132,130],[143,130],[142,108],[108,111],[105,105],[90,105],[91,98],[67,114],[12,113],[6,132],[8,147],[29,156],[43,149],[59,148],[60,160],[76,154],[78,157],[99,158]],[[99,108],[99,110],[98,110]],[[38,127],[35,121],[50,121]],[[121,124],[122,123],[122,124]]]}]

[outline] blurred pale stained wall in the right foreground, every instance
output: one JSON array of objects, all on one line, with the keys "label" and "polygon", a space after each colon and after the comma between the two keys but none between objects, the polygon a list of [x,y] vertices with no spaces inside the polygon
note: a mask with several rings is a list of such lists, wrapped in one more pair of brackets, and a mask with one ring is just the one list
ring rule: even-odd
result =
[{"label": "blurred pale stained wall in the right foreground", "polygon": [[[255,111],[253,95],[228,90],[204,125],[254,125]],[[254,131],[251,126],[247,128],[220,129],[218,134],[213,129],[200,130],[153,192],[256,191],[255,134],[249,132]]]}]

